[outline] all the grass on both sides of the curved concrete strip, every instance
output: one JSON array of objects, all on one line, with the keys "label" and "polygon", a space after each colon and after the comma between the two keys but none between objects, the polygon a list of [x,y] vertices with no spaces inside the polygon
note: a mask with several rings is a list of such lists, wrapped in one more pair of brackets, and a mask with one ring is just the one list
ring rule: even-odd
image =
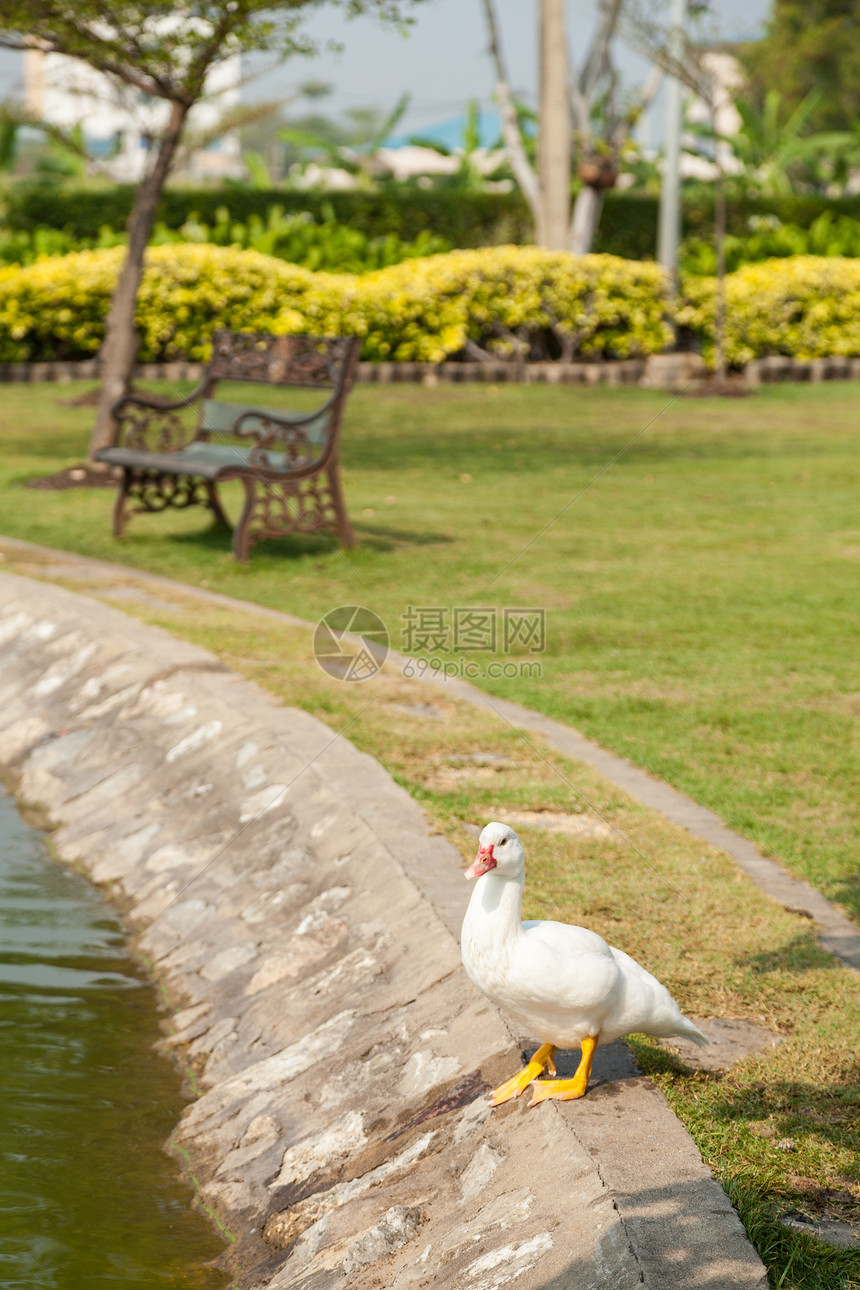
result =
[{"label": "all the grass on both sides of the curved concrete strip", "polygon": [[[117,546],[110,494],[21,488],[81,455],[92,413],[58,406],[66,396],[4,391],[6,533],[311,619],[362,602],[397,644],[409,605],[545,606],[543,680],[481,684],[664,775],[857,911],[854,387],[668,409],[668,396],[646,391],[358,388],[344,473],[360,547],[344,560],[321,543],[272,544],[249,569],[233,565],[201,513],[141,517]],[[505,811],[578,811],[584,800],[619,829],[523,831],[526,916],[594,928],[694,1015],[744,1017],[785,1036],[722,1077],[691,1073],[647,1040],[633,1045],[732,1196],[774,1285],[859,1290],[860,1250],[829,1250],[776,1222],[787,1211],[860,1222],[857,978],[819,948],[808,920],[589,768],[487,713],[436,690],[435,711],[422,713],[428,691],[396,670],[343,685],[311,660],[303,630],[237,620],[181,595],[165,601],[121,606],[342,729],[464,858],[474,846],[464,822]]]}]

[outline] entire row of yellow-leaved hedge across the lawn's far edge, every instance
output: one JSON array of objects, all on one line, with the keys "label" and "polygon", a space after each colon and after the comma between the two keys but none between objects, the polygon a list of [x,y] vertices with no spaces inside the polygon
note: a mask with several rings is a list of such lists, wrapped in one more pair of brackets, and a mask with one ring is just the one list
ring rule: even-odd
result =
[{"label": "entire row of yellow-leaved hedge across the lawn's far edge", "polygon": [[[124,249],[0,268],[0,361],[84,359],[101,344]],[[674,322],[713,355],[714,281],[683,283]],[[152,246],[138,301],[141,359],[204,360],[217,326],[355,334],[370,360],[629,357],[672,343],[656,264],[493,246],[371,273],[313,273],[255,250]],[[860,355],[860,261],[797,255],[727,279],[726,350]]]}]

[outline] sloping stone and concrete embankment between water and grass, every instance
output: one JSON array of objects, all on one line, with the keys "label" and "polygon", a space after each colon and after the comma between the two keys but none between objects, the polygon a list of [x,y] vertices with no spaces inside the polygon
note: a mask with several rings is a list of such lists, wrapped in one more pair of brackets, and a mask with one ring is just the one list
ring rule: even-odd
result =
[{"label": "sloping stone and concrete embankment between water and grass", "polygon": [[459,858],[347,738],[9,574],[0,693],[0,764],[164,986],[199,1093],[171,1146],[236,1286],[766,1286],[625,1050],[581,1103],[490,1112],[518,1051],[459,965]]}]

